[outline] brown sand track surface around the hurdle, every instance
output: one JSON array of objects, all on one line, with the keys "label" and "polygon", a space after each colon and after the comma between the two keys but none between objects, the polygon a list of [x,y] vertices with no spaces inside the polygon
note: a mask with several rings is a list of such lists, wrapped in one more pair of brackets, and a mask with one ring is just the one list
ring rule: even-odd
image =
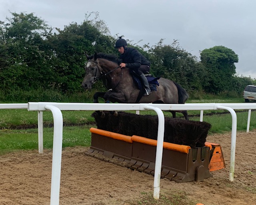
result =
[{"label": "brown sand track surface around the hurdle", "polygon": [[[161,179],[160,194],[180,190],[204,205],[256,204],[256,130],[237,133],[234,182],[228,180],[231,133],[211,135],[207,141],[220,143],[226,168],[202,182]],[[100,161],[85,155],[87,150],[75,147],[62,152],[60,205],[128,205],[142,192],[153,192],[152,175]],[[51,150],[0,156],[0,205],[49,205],[51,169]]]}]

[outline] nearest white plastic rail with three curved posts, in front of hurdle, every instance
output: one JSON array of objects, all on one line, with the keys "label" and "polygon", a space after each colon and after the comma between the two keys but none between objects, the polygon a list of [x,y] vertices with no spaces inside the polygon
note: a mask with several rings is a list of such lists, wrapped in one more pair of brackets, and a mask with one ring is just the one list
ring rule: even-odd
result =
[{"label": "nearest white plastic rail with three curved posts, in front of hurdle", "polygon": [[[51,107],[49,107],[51,106]],[[154,173],[154,198],[159,199],[160,194],[160,174],[161,174],[161,164],[162,164],[162,143],[164,137],[164,115],[162,110],[215,110],[215,109],[226,109],[232,115],[232,139],[231,139],[231,157],[230,157],[230,181],[234,180],[234,162],[235,162],[235,149],[236,149],[236,112],[234,109],[230,107],[224,107],[222,105],[217,104],[200,104],[200,103],[192,103],[192,104],[148,104],[148,103],[141,103],[141,104],[113,104],[113,103],[103,103],[103,104],[94,104],[94,103],[47,103],[47,102],[38,102],[28,103],[28,110],[29,111],[45,111],[46,109],[51,108],[51,111],[54,115],[54,112],[57,113],[56,109],[53,109],[53,106],[56,109],[61,110],[87,110],[87,111],[94,111],[94,110],[116,110],[116,111],[125,111],[125,110],[147,110],[152,109],[157,112],[159,124],[158,124],[158,142],[156,147],[156,167]],[[61,112],[59,112],[61,113]],[[61,119],[62,116],[56,116],[54,119]],[[60,124],[60,123],[59,123]],[[162,128],[161,128],[162,127]],[[62,153],[62,127],[56,128],[54,124],[54,130],[57,129],[59,133],[54,134],[54,138],[58,141],[53,145],[53,164],[52,165],[52,187],[51,187],[51,205],[59,204],[59,191],[60,191],[60,167],[61,167],[61,153]],[[54,132],[55,133],[55,132]],[[56,150],[56,151],[55,151]],[[54,177],[53,177],[54,174]]]}]

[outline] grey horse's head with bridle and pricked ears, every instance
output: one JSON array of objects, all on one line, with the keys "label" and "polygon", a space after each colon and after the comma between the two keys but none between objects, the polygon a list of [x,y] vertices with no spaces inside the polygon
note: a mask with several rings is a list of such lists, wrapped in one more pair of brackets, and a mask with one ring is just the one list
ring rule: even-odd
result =
[{"label": "grey horse's head with bridle and pricked ears", "polygon": [[92,84],[96,83],[98,78],[100,78],[100,70],[98,68],[97,55],[88,56],[86,54],[87,63],[85,65],[85,75],[84,80],[82,82],[82,87],[84,90],[91,89]]}]

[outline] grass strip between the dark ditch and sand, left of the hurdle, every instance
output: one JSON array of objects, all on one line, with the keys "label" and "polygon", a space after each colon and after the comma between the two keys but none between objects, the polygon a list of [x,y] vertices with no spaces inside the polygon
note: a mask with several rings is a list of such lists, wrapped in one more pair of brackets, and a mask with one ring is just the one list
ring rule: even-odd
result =
[{"label": "grass strip between the dark ditch and sand, left of the hurdle", "polygon": [[[90,146],[91,126],[64,127],[62,147]],[[52,149],[53,127],[44,128],[44,148]],[[38,149],[37,129],[0,129],[0,154],[16,150]]]}]

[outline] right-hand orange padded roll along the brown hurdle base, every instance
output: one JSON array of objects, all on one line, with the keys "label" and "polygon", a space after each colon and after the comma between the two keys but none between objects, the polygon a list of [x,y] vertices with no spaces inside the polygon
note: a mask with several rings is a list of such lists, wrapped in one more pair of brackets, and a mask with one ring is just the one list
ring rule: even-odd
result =
[{"label": "right-hand orange padded roll along the brown hurdle base", "polygon": [[[146,137],[140,137],[137,135],[132,135],[132,141],[136,141],[139,143],[144,143],[144,144],[152,145],[152,146],[156,146],[156,144],[157,144],[157,140],[155,140],[155,139],[148,139]],[[171,149],[174,151],[179,151],[179,152],[187,153],[187,154],[189,152],[189,149],[191,149],[191,147],[187,146],[187,145],[177,145],[177,144],[169,143],[169,142],[164,142],[163,147],[165,149]]]}]

